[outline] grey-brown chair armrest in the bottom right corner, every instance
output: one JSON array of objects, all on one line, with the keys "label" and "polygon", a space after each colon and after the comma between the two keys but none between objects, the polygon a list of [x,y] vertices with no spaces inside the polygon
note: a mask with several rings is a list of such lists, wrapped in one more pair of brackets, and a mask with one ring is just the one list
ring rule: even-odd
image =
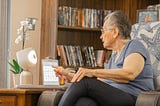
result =
[{"label": "grey-brown chair armrest in the bottom right corner", "polygon": [[135,106],[160,106],[160,92],[143,92],[137,97]]}]

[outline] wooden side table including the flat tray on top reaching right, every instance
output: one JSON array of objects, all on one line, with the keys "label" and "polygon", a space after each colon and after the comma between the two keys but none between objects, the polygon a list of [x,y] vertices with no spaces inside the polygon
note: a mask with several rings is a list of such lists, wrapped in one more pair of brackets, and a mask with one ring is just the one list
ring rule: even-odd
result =
[{"label": "wooden side table including the flat tray on top reaching right", "polygon": [[37,106],[45,90],[65,90],[64,86],[21,85],[15,89],[0,89],[0,106]]}]

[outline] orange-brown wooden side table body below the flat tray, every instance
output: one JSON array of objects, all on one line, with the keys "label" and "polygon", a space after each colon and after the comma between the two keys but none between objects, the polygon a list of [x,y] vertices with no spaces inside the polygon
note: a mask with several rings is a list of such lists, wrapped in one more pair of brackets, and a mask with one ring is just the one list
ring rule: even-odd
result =
[{"label": "orange-brown wooden side table body below the flat tray", "polygon": [[0,89],[0,106],[37,106],[42,90]]}]

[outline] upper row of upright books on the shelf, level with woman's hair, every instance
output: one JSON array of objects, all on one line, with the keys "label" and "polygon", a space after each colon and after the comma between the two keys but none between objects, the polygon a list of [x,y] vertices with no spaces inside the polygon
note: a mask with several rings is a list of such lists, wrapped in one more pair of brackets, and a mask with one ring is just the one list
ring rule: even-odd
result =
[{"label": "upper row of upright books on the shelf, level with woman's hair", "polygon": [[98,28],[103,25],[103,19],[113,10],[89,8],[58,7],[58,24],[73,27]]}]

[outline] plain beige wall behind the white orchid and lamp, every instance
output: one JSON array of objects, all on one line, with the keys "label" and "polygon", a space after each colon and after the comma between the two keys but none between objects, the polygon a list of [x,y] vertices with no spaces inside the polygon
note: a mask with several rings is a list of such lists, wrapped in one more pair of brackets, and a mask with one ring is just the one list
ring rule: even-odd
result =
[{"label": "plain beige wall behind the white orchid and lamp", "polygon": [[[30,31],[29,40],[25,47],[33,47],[37,52],[38,64],[33,68],[34,84],[39,84],[39,64],[40,64],[40,31],[41,31],[41,0],[11,0],[11,27],[10,27],[10,59],[16,58],[16,51],[21,50],[21,44],[15,44],[17,29],[20,21],[26,17],[37,18],[35,31]],[[12,75],[10,75],[12,79]],[[10,82],[12,87],[12,80]]]}]

